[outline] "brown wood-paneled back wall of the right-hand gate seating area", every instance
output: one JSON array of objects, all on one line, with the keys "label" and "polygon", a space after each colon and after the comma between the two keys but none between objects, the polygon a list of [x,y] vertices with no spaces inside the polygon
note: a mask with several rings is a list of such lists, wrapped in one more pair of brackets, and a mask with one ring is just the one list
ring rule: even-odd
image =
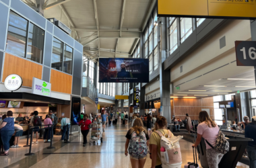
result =
[{"label": "brown wood-paneled back wall of the right-hand gate seating area", "polygon": [[214,118],[213,97],[201,99],[174,99],[173,101],[173,114],[175,115],[175,118],[184,120],[185,115],[189,114],[191,120],[198,120],[199,112],[201,112],[202,109],[210,109],[210,117],[212,119]]}]

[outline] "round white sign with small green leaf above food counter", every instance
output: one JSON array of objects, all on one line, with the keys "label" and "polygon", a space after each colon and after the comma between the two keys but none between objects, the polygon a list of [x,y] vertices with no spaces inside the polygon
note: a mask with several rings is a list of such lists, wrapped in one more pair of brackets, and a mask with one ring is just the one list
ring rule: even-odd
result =
[{"label": "round white sign with small green leaf above food counter", "polygon": [[11,74],[5,78],[5,88],[9,91],[16,91],[22,87],[22,77],[16,74]]}]

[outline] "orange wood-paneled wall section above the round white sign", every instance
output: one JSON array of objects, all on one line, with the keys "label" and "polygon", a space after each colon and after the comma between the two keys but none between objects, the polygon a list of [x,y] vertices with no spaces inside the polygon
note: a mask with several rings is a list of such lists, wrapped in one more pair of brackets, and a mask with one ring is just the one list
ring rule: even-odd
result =
[{"label": "orange wood-paneled wall section above the round white sign", "polygon": [[33,77],[42,79],[42,65],[5,53],[2,81],[11,74],[22,77],[22,86],[32,87]]}]

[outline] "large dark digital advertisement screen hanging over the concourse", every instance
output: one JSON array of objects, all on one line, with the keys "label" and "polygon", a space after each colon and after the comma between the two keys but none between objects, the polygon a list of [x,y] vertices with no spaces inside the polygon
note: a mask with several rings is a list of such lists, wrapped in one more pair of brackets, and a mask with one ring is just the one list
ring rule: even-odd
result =
[{"label": "large dark digital advertisement screen hanging over the concourse", "polygon": [[148,59],[99,59],[99,83],[148,83],[149,78]]}]

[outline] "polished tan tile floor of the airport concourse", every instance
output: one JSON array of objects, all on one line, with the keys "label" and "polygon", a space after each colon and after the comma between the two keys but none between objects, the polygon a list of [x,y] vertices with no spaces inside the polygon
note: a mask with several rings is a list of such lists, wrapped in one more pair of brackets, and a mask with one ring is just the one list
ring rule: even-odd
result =
[{"label": "polished tan tile floor of the airport concourse", "polygon": [[[34,156],[25,156],[29,147],[23,147],[26,139],[21,140],[20,148],[10,149],[9,156],[0,157],[0,167],[87,167],[87,168],[130,168],[129,156],[125,157],[125,134],[129,128],[121,126],[106,126],[103,133],[102,144],[82,146],[82,134],[71,136],[71,143],[65,144],[59,141],[60,136],[55,136],[53,146],[55,149],[46,149],[49,143],[39,140],[38,144],[32,144]],[[89,140],[89,134],[88,134]],[[193,161],[191,142],[181,140],[181,152],[183,153],[183,165]],[[148,155],[146,168],[151,167],[151,160]],[[248,166],[238,163],[237,168]],[[249,167],[248,167],[249,168]]]}]

